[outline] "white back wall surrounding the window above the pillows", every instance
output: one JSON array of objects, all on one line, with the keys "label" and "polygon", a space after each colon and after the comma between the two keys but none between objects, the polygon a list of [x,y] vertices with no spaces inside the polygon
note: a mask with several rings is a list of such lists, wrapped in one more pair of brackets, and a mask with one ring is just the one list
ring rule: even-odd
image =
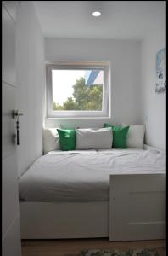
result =
[{"label": "white back wall surrounding the window above the pillows", "polygon": [[139,41],[130,40],[46,38],[46,61],[110,61],[112,91],[111,119],[46,119],[46,126],[139,123],[140,46]]}]

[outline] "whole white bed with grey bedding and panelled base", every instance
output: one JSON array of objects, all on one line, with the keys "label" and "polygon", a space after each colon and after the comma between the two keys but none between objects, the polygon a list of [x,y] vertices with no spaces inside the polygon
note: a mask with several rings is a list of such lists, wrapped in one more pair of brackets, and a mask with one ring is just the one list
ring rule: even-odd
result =
[{"label": "whole white bed with grey bedding and panelled base", "polygon": [[51,151],[20,177],[22,239],[165,238],[165,153]]}]

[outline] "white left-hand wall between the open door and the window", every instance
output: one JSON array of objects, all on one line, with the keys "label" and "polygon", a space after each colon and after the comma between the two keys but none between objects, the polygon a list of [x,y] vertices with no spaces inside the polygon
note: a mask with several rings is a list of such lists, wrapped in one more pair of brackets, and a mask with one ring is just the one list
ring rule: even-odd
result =
[{"label": "white left-hand wall between the open door and the window", "polygon": [[17,9],[16,84],[20,117],[19,175],[42,155],[42,122],[45,99],[44,44],[31,1]]}]

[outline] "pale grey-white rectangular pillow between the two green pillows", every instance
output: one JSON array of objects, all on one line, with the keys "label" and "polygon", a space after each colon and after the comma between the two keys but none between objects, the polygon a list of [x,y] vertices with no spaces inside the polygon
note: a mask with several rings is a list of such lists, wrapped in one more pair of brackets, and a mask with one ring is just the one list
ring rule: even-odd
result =
[{"label": "pale grey-white rectangular pillow between the two green pillows", "polygon": [[76,129],[76,149],[111,148],[113,134],[111,127],[101,129]]}]

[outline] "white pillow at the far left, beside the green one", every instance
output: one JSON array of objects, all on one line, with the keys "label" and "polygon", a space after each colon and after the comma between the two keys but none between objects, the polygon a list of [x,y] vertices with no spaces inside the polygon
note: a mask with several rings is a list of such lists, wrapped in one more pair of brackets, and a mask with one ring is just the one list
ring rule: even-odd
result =
[{"label": "white pillow at the far left, beside the green one", "polygon": [[60,149],[59,134],[56,128],[43,129],[43,149],[44,154]]}]

